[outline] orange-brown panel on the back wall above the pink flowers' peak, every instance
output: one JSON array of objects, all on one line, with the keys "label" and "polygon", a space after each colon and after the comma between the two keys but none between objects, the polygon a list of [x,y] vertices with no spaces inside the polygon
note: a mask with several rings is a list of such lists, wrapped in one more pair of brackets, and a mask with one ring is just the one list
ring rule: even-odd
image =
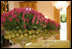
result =
[{"label": "orange-brown panel on the back wall above the pink flowers' peak", "polygon": [[37,1],[24,1],[19,2],[21,8],[30,7],[37,10]]}]

